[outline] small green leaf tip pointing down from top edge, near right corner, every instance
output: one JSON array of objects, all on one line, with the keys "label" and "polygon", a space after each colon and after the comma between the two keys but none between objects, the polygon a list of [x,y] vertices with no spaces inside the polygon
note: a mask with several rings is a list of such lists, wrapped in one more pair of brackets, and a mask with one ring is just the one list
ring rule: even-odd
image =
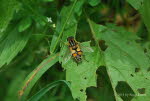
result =
[{"label": "small green leaf tip pointing down from top edge, near right corner", "polygon": [[127,0],[135,9],[140,9],[144,0]]}]

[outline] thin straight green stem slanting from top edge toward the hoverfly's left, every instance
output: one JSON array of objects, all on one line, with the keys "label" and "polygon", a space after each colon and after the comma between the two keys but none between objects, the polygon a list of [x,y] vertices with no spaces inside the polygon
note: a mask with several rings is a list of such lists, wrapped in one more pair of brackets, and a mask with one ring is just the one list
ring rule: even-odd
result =
[{"label": "thin straight green stem slanting from top edge toward the hoverfly's left", "polygon": [[71,10],[70,10],[70,12],[69,12],[69,14],[68,14],[68,17],[67,17],[65,23],[63,24],[62,30],[61,30],[61,32],[60,32],[60,34],[59,34],[59,36],[58,36],[58,38],[57,38],[57,40],[56,40],[56,43],[54,44],[54,48],[52,49],[51,53],[54,53],[54,51],[56,50],[58,41],[60,40],[60,38],[61,38],[61,36],[62,36],[62,34],[63,34],[63,31],[64,31],[64,29],[65,29],[65,26],[66,26],[66,24],[67,24],[67,22],[68,22],[68,20],[69,20],[69,18],[70,18],[70,16],[71,16],[72,12],[73,12],[73,9],[74,9],[74,6],[75,6],[76,2],[77,2],[77,0],[75,0],[74,3],[73,3],[73,5],[72,5],[72,8],[71,8]]}]

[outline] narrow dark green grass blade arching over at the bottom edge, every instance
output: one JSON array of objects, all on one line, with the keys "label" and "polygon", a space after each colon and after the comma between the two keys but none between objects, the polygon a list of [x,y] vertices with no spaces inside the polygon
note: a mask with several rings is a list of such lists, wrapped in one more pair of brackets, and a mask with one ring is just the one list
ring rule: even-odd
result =
[{"label": "narrow dark green grass blade arching over at the bottom edge", "polygon": [[45,95],[49,90],[56,87],[57,85],[64,83],[70,88],[69,82],[65,80],[58,80],[53,83],[48,84],[44,88],[42,88],[40,91],[38,91],[35,95],[33,95],[29,100],[27,101],[38,101],[43,95]]}]

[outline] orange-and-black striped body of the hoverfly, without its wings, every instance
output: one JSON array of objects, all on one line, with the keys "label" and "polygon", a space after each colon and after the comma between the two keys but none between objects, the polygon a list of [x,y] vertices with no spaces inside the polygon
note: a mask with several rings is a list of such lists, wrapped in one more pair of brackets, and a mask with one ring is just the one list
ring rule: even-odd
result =
[{"label": "orange-and-black striped body of the hoverfly, without its wings", "polygon": [[68,37],[67,41],[72,57],[75,59],[77,63],[81,62],[83,52],[80,49],[78,42],[74,39],[73,36]]}]

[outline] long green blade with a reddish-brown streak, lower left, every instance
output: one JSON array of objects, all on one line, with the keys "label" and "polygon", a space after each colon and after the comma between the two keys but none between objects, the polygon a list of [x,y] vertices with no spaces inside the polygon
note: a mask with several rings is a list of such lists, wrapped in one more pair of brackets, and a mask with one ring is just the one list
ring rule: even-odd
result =
[{"label": "long green blade with a reddish-brown streak, lower left", "polygon": [[19,97],[21,101],[26,100],[31,88],[34,86],[37,80],[39,80],[39,78],[58,61],[58,55],[59,53],[53,54],[43,60],[43,62],[40,63],[39,66],[26,77],[19,91]]}]

